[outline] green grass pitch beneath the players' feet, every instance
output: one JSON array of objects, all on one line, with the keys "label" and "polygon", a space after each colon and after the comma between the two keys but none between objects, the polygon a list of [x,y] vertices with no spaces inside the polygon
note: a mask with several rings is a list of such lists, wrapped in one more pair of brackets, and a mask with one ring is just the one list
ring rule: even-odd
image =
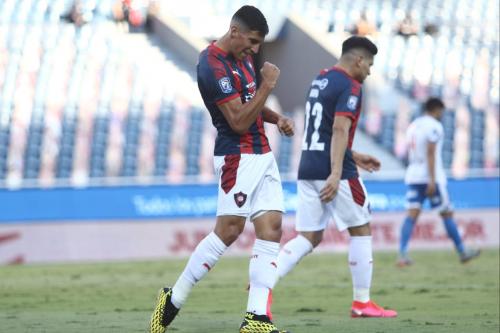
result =
[{"label": "green grass pitch beneath the players' feet", "polygon": [[[275,323],[293,333],[498,333],[499,250],[462,265],[450,251],[376,252],[372,298],[396,319],[351,319],[346,254],[313,254],[274,290]],[[145,332],[157,290],[187,259],[0,267],[0,332]],[[168,332],[237,332],[248,259],[224,257],[192,291]]]}]

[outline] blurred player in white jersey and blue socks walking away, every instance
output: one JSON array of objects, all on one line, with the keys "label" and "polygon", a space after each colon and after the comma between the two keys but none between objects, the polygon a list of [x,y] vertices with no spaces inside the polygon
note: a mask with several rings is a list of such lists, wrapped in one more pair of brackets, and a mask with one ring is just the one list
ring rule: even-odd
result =
[{"label": "blurred player in white jersey and blue socks walking away", "polygon": [[443,125],[439,121],[445,107],[438,98],[429,98],[424,104],[424,114],[415,119],[406,133],[408,144],[408,168],[405,183],[408,187],[406,200],[408,213],[401,227],[399,245],[400,267],[412,264],[408,257],[408,242],[422,208],[422,203],[429,199],[432,208],[439,209],[443,223],[462,263],[477,257],[476,249],[466,249],[463,245],[457,225],[453,220],[453,211],[446,188],[446,174],[441,160],[443,146]]}]

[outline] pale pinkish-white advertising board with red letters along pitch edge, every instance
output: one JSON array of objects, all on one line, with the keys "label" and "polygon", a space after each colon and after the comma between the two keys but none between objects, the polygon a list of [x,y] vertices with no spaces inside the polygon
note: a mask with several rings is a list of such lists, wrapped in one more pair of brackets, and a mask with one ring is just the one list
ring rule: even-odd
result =
[{"label": "pale pinkish-white advertising board with red letters along pitch edge", "polygon": [[[374,250],[396,251],[404,212],[374,213]],[[499,210],[460,210],[455,218],[467,245],[499,246]],[[282,242],[295,235],[294,215],[284,216]],[[131,220],[0,225],[0,264],[78,262],[181,258],[188,256],[214,226],[214,219]],[[254,241],[253,226],[231,246],[228,255],[248,255]],[[334,223],[317,252],[347,251],[349,236]],[[453,249],[437,214],[420,217],[410,242],[412,249]]]}]

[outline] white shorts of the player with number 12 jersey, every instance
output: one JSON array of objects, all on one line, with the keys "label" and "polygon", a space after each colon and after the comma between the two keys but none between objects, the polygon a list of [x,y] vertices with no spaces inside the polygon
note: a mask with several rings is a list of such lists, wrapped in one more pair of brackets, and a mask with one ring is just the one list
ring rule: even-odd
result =
[{"label": "white shorts of the player with number 12 jersey", "polygon": [[324,184],[324,180],[297,182],[297,231],[324,230],[332,219],[339,231],[371,221],[370,203],[361,178],[340,180],[337,195],[328,203],[321,202],[319,197]]}]

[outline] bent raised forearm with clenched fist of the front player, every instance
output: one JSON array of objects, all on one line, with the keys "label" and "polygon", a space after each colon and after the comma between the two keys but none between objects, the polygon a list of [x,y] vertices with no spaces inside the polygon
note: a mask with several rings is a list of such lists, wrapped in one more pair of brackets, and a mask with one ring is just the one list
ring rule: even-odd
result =
[{"label": "bent raised forearm with clenched fist of the front player", "polygon": [[224,114],[231,129],[240,135],[245,134],[263,110],[269,94],[276,86],[280,70],[276,65],[265,62],[260,73],[262,83],[250,101],[243,104],[241,99],[234,98],[219,105],[219,109]]}]

